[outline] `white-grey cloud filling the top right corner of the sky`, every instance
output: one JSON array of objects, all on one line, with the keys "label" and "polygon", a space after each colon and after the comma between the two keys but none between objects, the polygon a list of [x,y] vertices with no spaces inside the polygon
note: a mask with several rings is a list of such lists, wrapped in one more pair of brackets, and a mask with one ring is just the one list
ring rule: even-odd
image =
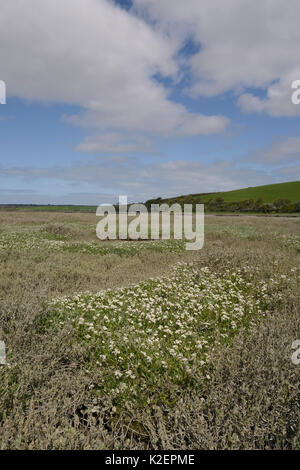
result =
[{"label": "white-grey cloud filling the top right corner of the sky", "polygon": [[134,0],[134,5],[161,31],[192,36],[200,45],[189,59],[191,95],[261,88],[267,90],[265,99],[245,94],[239,106],[273,116],[300,114],[300,106],[291,104],[291,82],[300,79],[298,0],[189,0],[176,2],[176,8],[173,0]]}]

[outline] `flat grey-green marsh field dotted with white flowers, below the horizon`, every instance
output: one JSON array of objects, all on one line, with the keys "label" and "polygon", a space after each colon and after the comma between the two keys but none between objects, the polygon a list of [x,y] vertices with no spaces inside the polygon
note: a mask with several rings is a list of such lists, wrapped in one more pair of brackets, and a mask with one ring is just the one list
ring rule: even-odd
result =
[{"label": "flat grey-green marsh field dotted with white flowers, below the horizon", "polygon": [[205,245],[0,213],[1,449],[299,449],[300,219]]}]

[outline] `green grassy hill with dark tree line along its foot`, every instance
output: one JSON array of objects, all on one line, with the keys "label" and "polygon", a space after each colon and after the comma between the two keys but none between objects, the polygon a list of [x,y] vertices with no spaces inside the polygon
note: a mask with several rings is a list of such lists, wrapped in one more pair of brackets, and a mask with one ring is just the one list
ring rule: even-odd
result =
[{"label": "green grassy hill with dark tree line along its foot", "polygon": [[166,199],[150,199],[149,206],[155,203],[206,204],[211,211],[247,212],[299,212],[300,181],[268,184],[233,191],[198,193]]}]

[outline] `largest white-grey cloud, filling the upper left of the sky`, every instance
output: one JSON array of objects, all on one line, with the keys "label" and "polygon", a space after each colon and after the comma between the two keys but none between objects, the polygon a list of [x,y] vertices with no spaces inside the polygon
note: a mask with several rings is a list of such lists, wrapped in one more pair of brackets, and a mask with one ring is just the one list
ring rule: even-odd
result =
[{"label": "largest white-grey cloud, filling the upper left of the sky", "polygon": [[[220,132],[228,120],[193,115],[152,77],[176,78],[179,40],[108,0],[0,0],[0,63],[7,93],[77,104],[69,117],[100,130]],[[206,122],[207,119],[207,122]]]}]

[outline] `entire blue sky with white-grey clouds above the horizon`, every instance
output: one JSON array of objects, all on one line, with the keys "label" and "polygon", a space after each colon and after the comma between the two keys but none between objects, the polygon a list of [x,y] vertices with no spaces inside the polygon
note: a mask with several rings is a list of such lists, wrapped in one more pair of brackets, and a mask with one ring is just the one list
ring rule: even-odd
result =
[{"label": "entire blue sky with white-grey clouds above the horizon", "polygon": [[300,180],[298,0],[0,0],[0,203]]}]

